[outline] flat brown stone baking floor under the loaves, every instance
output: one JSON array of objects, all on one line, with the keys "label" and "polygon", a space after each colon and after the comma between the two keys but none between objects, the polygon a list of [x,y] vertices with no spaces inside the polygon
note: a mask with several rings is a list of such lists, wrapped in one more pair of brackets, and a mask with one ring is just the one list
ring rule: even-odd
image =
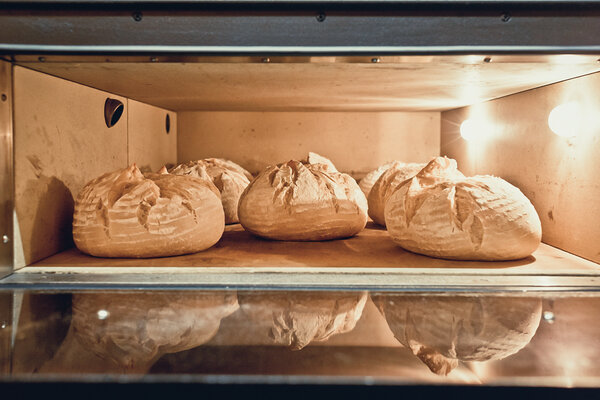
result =
[{"label": "flat brown stone baking floor under the loaves", "polygon": [[[503,274],[597,274],[598,265],[551,246],[541,244],[532,256],[516,261],[451,261],[410,253],[389,237],[387,231],[368,223],[358,235],[325,242],[281,242],[260,239],[244,231],[239,224],[227,225],[221,240],[208,250],[178,257],[143,260],[96,258],[77,249],[70,249],[32,265],[41,267],[171,267],[173,272],[188,268],[174,267],[227,267],[256,269],[275,267],[285,271],[303,268],[356,268],[365,273],[380,268],[394,268],[406,273],[467,271],[486,275]],[[47,268],[44,268],[47,269]],[[82,268],[84,270],[84,268]],[[151,272],[151,269],[146,269]],[[145,272],[145,271],[144,271]]]}]

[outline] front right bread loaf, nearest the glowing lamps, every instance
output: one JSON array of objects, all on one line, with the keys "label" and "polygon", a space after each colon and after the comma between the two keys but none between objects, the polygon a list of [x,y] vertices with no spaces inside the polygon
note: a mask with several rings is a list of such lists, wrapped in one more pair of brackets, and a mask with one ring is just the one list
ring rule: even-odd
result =
[{"label": "front right bread loaf, nearest the glowing lamps", "polygon": [[385,222],[404,249],[455,260],[516,260],[542,237],[535,208],[519,189],[493,176],[466,178],[445,157],[398,187]]}]

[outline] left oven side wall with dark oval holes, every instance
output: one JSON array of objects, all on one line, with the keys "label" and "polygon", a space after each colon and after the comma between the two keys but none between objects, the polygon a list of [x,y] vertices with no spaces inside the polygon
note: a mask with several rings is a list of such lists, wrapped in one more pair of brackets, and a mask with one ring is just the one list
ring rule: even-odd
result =
[{"label": "left oven side wall with dark oval holes", "polygon": [[[15,268],[73,245],[75,199],[90,180],[176,161],[176,113],[14,67]],[[107,127],[107,98],[123,103]],[[171,118],[169,135],[165,117]]]}]

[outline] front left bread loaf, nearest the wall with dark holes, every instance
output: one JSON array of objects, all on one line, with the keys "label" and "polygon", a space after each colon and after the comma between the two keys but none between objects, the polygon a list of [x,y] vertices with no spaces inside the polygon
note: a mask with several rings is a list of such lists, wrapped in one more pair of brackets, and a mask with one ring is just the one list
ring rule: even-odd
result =
[{"label": "front left bread loaf, nearest the wall with dark holes", "polygon": [[225,229],[219,191],[208,180],[132,166],[88,183],[77,196],[73,239],[97,257],[164,257],[211,247]]}]

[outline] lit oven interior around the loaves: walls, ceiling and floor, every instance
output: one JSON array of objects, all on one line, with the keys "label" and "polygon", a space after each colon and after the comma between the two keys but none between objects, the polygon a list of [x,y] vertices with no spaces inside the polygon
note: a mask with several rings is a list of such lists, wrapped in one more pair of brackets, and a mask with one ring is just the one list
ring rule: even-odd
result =
[{"label": "lit oven interior around the loaves: walls, ceiling and floor", "polygon": [[[331,282],[363,274],[363,284],[378,285],[388,282],[381,274],[395,283],[416,274],[446,285],[485,276],[502,284],[505,276],[584,277],[597,285],[596,56],[21,55],[2,63],[12,77],[17,274],[234,276],[264,268],[298,273],[303,285],[318,281],[308,278],[315,271],[338,274]],[[551,114],[564,136],[551,129]],[[309,151],[357,180],[390,160],[454,158],[467,176],[517,186],[540,216],[543,243],[525,260],[460,262],[399,252],[372,225],[322,243],[272,243],[229,226],[214,248],[181,257],[100,259],[73,248],[74,198],[105,172],[221,157],[257,174]]]}]

